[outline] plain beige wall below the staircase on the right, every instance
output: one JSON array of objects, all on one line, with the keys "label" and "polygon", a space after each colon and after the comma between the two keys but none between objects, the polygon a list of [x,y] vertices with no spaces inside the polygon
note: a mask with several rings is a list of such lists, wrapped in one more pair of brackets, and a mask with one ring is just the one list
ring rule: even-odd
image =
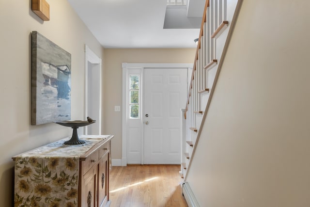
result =
[{"label": "plain beige wall below the staircase on the right", "polygon": [[201,206],[310,206],[309,8],[243,1],[187,174]]}]

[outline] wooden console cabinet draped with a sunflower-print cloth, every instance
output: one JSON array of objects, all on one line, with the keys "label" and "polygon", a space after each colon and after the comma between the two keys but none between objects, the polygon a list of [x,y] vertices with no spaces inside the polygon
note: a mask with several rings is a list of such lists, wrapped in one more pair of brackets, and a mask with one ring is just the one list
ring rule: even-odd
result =
[{"label": "wooden console cabinet draped with a sunflower-print cloth", "polygon": [[86,144],[63,139],[13,157],[15,207],[108,207],[112,138],[81,135]]}]

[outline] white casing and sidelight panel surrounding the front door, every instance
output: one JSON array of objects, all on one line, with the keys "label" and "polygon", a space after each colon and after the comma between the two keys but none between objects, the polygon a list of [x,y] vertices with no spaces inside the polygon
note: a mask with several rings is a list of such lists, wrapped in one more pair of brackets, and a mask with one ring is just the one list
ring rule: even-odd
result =
[{"label": "white casing and sidelight panel surrounding the front door", "polygon": [[[144,103],[143,103],[143,79],[144,68],[186,68],[191,69],[193,64],[128,64],[123,63],[123,106],[122,106],[122,160],[121,165],[144,163]],[[129,119],[128,100],[128,76],[140,75],[140,119]],[[186,90],[187,93],[187,90]],[[184,104],[186,100],[184,101]],[[181,107],[180,107],[181,108]],[[178,109],[178,114],[179,114]],[[178,124],[180,121],[177,122]],[[181,139],[181,138],[180,138]],[[179,147],[180,148],[180,147]],[[178,156],[180,158],[180,156]]]}]

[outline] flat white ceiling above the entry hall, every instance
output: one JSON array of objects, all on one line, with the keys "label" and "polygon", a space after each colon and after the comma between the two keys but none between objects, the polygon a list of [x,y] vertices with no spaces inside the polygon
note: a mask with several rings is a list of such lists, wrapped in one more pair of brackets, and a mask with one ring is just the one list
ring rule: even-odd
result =
[{"label": "flat white ceiling above the entry hall", "polygon": [[[167,0],[68,0],[104,48],[195,48],[200,29],[163,29]],[[205,0],[189,0],[204,5]],[[196,6],[197,7],[197,6]],[[194,11],[195,16],[202,16]],[[199,16],[199,15],[198,15]]]}]

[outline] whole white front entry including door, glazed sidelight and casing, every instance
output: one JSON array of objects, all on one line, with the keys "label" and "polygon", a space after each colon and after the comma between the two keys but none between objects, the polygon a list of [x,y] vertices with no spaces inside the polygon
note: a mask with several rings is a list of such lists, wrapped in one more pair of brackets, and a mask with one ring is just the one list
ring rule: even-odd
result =
[{"label": "whole white front entry including door, glazed sidelight and casing", "polygon": [[121,165],[179,164],[180,110],[186,105],[187,69],[192,64],[123,63],[122,67]]}]

